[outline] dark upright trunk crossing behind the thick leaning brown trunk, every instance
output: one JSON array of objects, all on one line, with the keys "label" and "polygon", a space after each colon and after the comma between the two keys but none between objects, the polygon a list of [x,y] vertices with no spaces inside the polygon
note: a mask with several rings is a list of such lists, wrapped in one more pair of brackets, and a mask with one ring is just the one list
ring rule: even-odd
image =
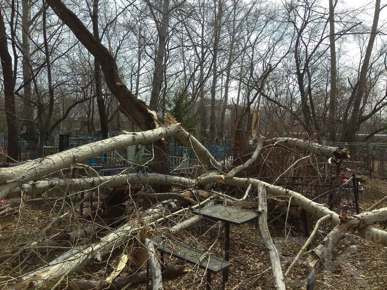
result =
[{"label": "dark upright trunk crossing behind the thick leaning brown trunk", "polygon": [[[99,39],[99,29],[98,29],[98,0],[93,1],[93,12],[91,15],[91,22],[93,24],[93,35],[97,39],[97,41],[101,42],[101,39]],[[109,134],[109,129],[108,129],[108,118],[106,117],[105,101],[102,97],[101,68],[99,67],[98,60],[96,60],[95,57],[94,57],[94,81],[96,83],[96,96],[97,96],[99,121],[101,123],[101,134],[103,139],[107,139]]]}]

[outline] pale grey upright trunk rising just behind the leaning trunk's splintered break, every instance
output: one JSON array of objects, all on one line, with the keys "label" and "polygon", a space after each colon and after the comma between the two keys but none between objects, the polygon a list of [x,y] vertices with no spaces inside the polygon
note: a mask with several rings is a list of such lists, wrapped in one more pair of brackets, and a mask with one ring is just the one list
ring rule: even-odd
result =
[{"label": "pale grey upright trunk rising just behind the leaning trunk's splintered break", "polygon": [[[162,20],[156,20],[157,32],[159,37],[159,43],[157,46],[157,55],[154,62],[153,82],[152,82],[152,93],[149,107],[157,111],[159,103],[159,94],[161,90],[161,82],[163,80],[164,72],[164,57],[165,57],[165,44],[168,31],[168,18],[169,18],[169,3],[170,0],[164,0],[163,4],[163,16]],[[152,9],[152,7],[150,7]]]}]

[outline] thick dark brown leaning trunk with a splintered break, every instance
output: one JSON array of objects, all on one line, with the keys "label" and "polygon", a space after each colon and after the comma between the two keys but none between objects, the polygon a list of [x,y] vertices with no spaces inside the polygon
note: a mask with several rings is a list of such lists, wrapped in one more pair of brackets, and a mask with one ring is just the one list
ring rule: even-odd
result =
[{"label": "thick dark brown leaning trunk with a splintered break", "polygon": [[[47,0],[50,7],[67,24],[77,39],[97,59],[104,73],[106,84],[111,93],[120,102],[120,111],[134,122],[141,130],[150,130],[159,126],[155,111],[128,90],[118,73],[116,61],[111,53],[87,30],[78,17],[60,0]],[[165,140],[154,142],[153,172],[169,174],[168,148]],[[158,188],[162,191],[164,188]]]}]

